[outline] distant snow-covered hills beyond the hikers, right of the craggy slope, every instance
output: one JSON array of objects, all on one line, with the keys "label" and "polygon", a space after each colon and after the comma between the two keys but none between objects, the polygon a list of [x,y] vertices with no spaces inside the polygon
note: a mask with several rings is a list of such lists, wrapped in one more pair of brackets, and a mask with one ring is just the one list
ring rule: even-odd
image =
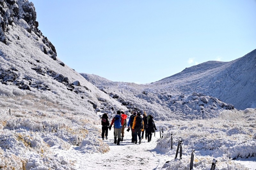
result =
[{"label": "distant snow-covered hills beyond the hikers, right of the craggy slope", "polygon": [[215,117],[215,111],[223,109],[254,108],[255,67],[253,50],[231,62],[201,63],[146,85],[112,82],[97,75],[87,80],[128,109],[144,109],[159,120],[200,119]]}]

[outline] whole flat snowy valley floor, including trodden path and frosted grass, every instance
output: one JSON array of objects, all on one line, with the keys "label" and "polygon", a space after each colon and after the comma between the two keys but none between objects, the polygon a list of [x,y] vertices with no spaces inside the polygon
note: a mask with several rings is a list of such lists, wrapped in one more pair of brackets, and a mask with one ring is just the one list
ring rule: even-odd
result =
[{"label": "whole flat snowy valley floor, including trodden path and frosted grass", "polygon": [[[151,142],[144,137],[141,144],[132,144],[131,131],[125,130],[119,146],[113,144],[113,129],[102,141],[101,126],[88,124],[84,115],[22,109],[11,116],[3,109],[0,115],[4,169],[189,169],[192,149],[195,169],[210,169],[213,159],[218,169],[256,168],[255,109],[224,111],[209,120],[156,121]],[[182,159],[174,159],[179,138]]]}]

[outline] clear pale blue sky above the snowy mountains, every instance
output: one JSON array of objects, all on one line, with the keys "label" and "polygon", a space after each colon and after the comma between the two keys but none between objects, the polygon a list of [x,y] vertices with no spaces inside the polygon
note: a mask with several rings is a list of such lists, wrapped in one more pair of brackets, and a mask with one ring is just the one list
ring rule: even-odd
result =
[{"label": "clear pale blue sky above the snowy mountains", "polygon": [[39,29],[80,73],[151,83],[256,47],[256,1],[34,0]]}]

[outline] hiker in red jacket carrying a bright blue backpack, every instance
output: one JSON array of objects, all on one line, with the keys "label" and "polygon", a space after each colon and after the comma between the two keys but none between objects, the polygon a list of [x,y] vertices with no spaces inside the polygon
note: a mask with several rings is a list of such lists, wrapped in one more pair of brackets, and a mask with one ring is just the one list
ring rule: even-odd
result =
[{"label": "hiker in red jacket carrying a bright blue backpack", "polygon": [[[115,123],[115,125],[114,125],[114,132],[115,132],[114,143],[117,145],[120,145],[122,124],[124,124],[124,119],[121,116],[121,112],[119,110],[116,112],[116,116],[112,119],[109,130],[111,130],[111,127],[114,123]],[[117,140],[116,140],[116,137],[117,137]]]}]

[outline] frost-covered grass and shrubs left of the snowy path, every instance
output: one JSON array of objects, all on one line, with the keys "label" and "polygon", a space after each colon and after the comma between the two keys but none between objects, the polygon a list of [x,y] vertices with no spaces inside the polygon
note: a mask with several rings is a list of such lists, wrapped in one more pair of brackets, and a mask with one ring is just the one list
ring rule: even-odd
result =
[{"label": "frost-covered grass and shrubs left of the snowy path", "polygon": [[0,117],[1,168],[74,169],[72,161],[52,149],[77,146],[84,153],[109,150],[98,138],[100,130],[84,115],[25,109],[11,109],[9,115],[9,109],[1,109]]}]

